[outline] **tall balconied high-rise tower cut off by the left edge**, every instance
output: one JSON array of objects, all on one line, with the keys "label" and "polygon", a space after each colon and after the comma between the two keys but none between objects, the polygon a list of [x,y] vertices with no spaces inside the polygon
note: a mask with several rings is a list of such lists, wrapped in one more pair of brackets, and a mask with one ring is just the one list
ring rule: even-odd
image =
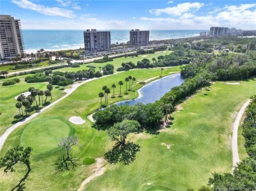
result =
[{"label": "tall balconied high-rise tower cut off by the left edge", "polygon": [[11,15],[0,15],[0,56],[1,59],[14,58],[23,54],[23,39],[20,20]]}]

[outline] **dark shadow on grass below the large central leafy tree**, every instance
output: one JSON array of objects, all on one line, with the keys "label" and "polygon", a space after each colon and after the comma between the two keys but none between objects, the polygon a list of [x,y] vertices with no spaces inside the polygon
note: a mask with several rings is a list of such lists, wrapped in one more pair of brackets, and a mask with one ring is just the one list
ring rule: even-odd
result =
[{"label": "dark shadow on grass below the large central leafy tree", "polygon": [[117,162],[121,162],[124,165],[129,165],[135,160],[137,152],[140,151],[139,148],[140,146],[136,145],[133,142],[117,142],[112,150],[106,152],[105,159],[110,164],[116,164]]}]

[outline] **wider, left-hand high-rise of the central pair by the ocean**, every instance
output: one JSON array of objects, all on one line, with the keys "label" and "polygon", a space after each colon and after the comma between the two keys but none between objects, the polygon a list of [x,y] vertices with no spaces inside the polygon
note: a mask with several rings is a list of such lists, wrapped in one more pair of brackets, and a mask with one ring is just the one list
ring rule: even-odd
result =
[{"label": "wider, left-hand high-rise of the central pair by the ocean", "polygon": [[85,41],[85,51],[110,50],[110,31],[96,31],[87,29],[83,31]]}]

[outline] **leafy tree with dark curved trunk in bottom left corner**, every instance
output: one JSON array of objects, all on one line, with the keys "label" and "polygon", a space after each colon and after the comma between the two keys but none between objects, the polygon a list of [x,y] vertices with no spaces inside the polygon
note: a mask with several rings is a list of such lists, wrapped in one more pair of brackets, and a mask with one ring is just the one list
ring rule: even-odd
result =
[{"label": "leafy tree with dark curved trunk in bottom left corner", "polygon": [[[28,174],[31,171],[30,167],[30,153],[32,152],[31,147],[27,147],[24,149],[24,147],[14,147],[5,153],[5,156],[0,159],[0,168],[5,167],[4,172],[7,173],[8,171],[14,172],[14,165],[20,163],[20,164],[25,164],[28,167],[28,171],[24,178],[20,180],[20,182],[14,187],[18,188],[17,190],[23,190],[24,189],[24,184],[22,184],[23,181],[25,181],[28,178]],[[12,188],[12,190],[14,190]]]}]

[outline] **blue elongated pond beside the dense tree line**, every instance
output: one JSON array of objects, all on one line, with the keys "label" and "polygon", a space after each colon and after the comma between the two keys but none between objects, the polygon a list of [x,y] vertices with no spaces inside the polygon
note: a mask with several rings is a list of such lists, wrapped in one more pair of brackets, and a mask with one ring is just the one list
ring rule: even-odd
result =
[{"label": "blue elongated pond beside the dense tree line", "polygon": [[116,105],[135,105],[137,103],[154,103],[160,100],[171,88],[180,86],[184,82],[181,74],[177,73],[154,80],[138,90],[139,97],[130,100],[119,101]]}]

